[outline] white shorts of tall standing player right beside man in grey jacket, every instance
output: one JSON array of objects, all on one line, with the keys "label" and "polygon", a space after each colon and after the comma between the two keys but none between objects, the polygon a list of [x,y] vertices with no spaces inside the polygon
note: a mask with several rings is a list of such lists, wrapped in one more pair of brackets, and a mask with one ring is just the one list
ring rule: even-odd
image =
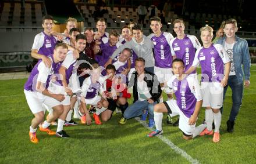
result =
[{"label": "white shorts of tall standing player right beside man in grey jacket", "polygon": [[159,83],[165,83],[173,76],[172,68],[160,68],[155,66],[154,74],[157,75]]}]

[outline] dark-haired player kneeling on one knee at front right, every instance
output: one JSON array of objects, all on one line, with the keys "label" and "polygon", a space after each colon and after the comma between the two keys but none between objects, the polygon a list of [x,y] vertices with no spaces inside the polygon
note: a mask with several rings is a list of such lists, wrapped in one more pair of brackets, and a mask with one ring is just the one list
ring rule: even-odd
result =
[{"label": "dark-haired player kneeling on one knee at front right", "polygon": [[155,105],[154,121],[156,129],[148,134],[148,137],[163,133],[163,113],[180,116],[179,129],[182,130],[185,140],[194,138],[204,130],[204,124],[195,127],[202,106],[200,85],[195,76],[184,74],[184,69],[184,61],[182,59],[174,59],[172,61],[172,71],[175,75],[169,79],[167,85],[175,93],[176,100],[168,100]]}]

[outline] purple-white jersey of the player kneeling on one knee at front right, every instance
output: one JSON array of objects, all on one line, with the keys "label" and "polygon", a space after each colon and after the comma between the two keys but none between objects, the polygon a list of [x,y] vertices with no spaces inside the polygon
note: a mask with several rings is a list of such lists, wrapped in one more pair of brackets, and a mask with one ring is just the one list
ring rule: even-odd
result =
[{"label": "purple-white jersey of the player kneeling on one knee at front right", "polygon": [[176,76],[172,76],[167,85],[175,93],[177,106],[187,118],[190,118],[194,113],[195,104],[197,101],[202,100],[197,78],[188,75],[182,81],[179,81]]}]

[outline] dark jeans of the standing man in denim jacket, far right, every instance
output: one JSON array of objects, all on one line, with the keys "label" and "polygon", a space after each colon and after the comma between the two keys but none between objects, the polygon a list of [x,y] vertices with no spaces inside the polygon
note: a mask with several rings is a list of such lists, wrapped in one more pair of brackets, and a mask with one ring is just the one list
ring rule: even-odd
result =
[{"label": "dark jeans of the standing man in denim jacket, far right", "polygon": [[[230,115],[229,115],[229,120],[235,121],[236,116],[238,115],[241,104],[242,104],[244,86],[243,86],[243,83],[239,83],[236,75],[229,76],[229,79],[227,80],[227,85],[223,90],[223,101],[225,99],[225,94],[228,86],[230,86],[232,90],[232,102],[233,102]],[[221,108],[221,112],[222,111],[223,109]]]}]

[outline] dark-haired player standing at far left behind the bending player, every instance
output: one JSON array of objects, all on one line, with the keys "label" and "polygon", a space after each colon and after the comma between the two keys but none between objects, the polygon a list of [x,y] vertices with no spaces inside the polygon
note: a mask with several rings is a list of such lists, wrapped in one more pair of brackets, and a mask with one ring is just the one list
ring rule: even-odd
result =
[{"label": "dark-haired player standing at far left behind the bending player", "polygon": [[42,60],[49,67],[51,60],[47,56],[54,54],[54,46],[57,43],[57,39],[51,35],[52,28],[54,27],[53,17],[50,15],[44,16],[42,18],[42,27],[44,31],[35,35],[31,56]]}]

